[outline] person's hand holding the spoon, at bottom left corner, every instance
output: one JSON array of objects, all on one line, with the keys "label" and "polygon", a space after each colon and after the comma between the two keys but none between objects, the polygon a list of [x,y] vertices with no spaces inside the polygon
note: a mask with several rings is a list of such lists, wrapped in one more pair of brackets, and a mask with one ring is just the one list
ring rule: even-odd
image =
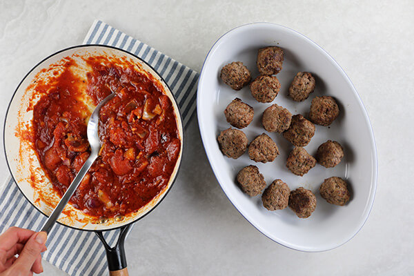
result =
[{"label": "person's hand holding the spoon, at bottom left corner", "polygon": [[[0,235],[0,276],[32,276],[42,273],[40,253],[46,251],[45,232],[10,227]],[[19,255],[19,257],[15,257]]]}]

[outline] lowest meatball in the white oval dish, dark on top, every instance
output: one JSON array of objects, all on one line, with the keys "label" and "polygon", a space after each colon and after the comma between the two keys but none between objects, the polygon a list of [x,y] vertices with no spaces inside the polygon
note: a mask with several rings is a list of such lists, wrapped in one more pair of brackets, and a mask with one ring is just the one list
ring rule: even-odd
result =
[{"label": "lowest meatball in the white oval dish, dark on top", "polygon": [[316,197],[311,190],[303,187],[290,192],[289,208],[295,212],[297,217],[306,219],[310,217],[316,208]]}]

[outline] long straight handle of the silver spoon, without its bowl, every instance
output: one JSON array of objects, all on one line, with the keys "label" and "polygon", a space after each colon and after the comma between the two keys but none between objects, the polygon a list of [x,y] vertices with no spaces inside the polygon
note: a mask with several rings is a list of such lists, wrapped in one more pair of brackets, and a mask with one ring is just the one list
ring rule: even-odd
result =
[{"label": "long straight handle of the silver spoon, without its bowl", "polygon": [[90,166],[92,166],[95,159],[97,159],[97,154],[95,152],[91,152],[88,159],[86,159],[82,168],[77,173],[75,179],[73,179],[72,183],[68,187],[68,190],[66,190],[65,194],[59,201],[59,204],[57,204],[55,210],[53,210],[52,214],[48,217],[48,220],[46,220],[45,224],[43,224],[41,231],[49,234],[50,230],[52,230],[52,227],[55,225],[55,222],[59,219],[63,208],[65,208],[66,204],[68,204],[70,197],[72,197],[73,193],[75,193],[75,190],[81,183],[83,177],[86,175],[86,172],[88,172]]}]

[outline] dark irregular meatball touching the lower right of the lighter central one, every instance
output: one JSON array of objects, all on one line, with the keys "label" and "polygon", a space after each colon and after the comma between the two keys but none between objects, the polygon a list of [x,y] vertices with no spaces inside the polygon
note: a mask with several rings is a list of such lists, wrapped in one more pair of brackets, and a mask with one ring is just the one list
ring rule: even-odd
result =
[{"label": "dark irregular meatball touching the lower right of the lighter central one", "polygon": [[306,146],[315,135],[315,126],[302,115],[294,115],[288,130],[283,132],[283,137],[294,146]]}]

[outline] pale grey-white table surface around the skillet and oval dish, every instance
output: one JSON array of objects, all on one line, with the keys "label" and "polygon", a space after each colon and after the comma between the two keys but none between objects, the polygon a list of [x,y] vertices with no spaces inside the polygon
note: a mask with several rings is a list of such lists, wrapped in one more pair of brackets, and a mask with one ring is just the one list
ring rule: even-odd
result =
[{"label": "pale grey-white table surface around the skillet and oval dish", "polygon": [[[362,97],[379,178],[371,216],[350,242],[302,253],[255,230],[219,188],[193,119],[179,179],[128,237],[130,275],[414,275],[414,1],[283,2],[0,1],[0,121],[26,72],[81,43],[94,19],[198,71],[224,32],[254,21],[279,23],[327,50]],[[0,175],[7,174],[1,148]],[[43,275],[66,275],[43,266]]]}]

